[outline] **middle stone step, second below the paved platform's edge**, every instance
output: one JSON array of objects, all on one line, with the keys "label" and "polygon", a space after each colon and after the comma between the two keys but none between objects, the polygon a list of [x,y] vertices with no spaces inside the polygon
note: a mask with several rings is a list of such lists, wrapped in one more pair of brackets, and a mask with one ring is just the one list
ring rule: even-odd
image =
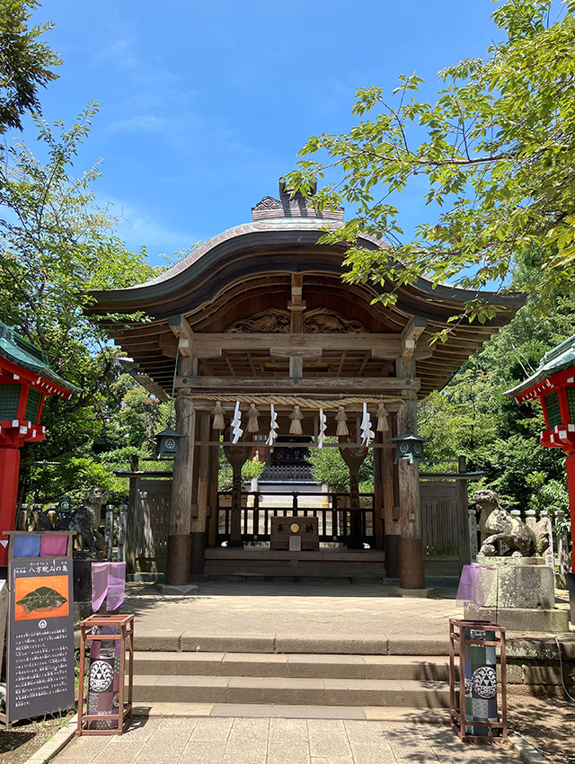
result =
[{"label": "middle stone step, second below the paved platform's edge", "polygon": [[134,677],[135,703],[282,704],[446,708],[447,682],[289,677]]}]

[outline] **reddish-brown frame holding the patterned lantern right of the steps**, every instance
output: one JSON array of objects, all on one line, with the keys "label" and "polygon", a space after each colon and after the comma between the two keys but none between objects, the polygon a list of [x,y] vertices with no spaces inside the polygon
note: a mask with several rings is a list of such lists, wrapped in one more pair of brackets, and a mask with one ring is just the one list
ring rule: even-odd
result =
[{"label": "reddish-brown frame holding the patterned lantern right of the steps", "polygon": [[[493,631],[494,640],[471,639],[465,631]],[[497,633],[499,632],[499,638]],[[456,689],[456,644],[459,645],[459,688]],[[498,721],[488,722],[467,719],[465,714],[465,646],[499,647],[501,667],[501,692],[498,703]],[[497,671],[497,667],[493,666]],[[497,690],[496,690],[497,693]],[[457,702],[457,694],[459,695]],[[496,694],[497,697],[497,694]],[[505,742],[507,741],[507,663],[505,657],[505,629],[489,621],[465,621],[449,618],[449,718],[451,729],[463,741]],[[467,733],[467,727],[484,727],[485,735]],[[490,734],[490,732],[492,733]],[[497,731],[500,731],[498,734]]]}]

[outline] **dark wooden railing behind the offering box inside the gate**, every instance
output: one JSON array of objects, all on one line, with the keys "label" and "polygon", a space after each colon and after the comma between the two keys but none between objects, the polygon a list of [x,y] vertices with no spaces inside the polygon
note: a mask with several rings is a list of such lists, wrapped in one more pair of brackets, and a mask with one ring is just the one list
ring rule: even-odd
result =
[{"label": "dark wooden railing behind the offering box inside the gate", "polygon": [[[291,498],[291,506],[275,499],[282,496]],[[313,496],[323,501],[327,507],[305,506],[305,497]],[[360,493],[362,506],[359,510],[349,508],[349,493],[314,493],[294,491],[279,493],[273,491],[242,492],[242,539],[244,543],[258,543],[270,540],[271,517],[316,517],[320,542],[343,543],[349,541],[350,516],[352,511],[361,513],[362,541],[370,546],[374,543],[374,494]],[[220,491],[217,494],[217,544],[227,541],[231,532],[232,493]],[[283,505],[282,505],[283,504]]]}]

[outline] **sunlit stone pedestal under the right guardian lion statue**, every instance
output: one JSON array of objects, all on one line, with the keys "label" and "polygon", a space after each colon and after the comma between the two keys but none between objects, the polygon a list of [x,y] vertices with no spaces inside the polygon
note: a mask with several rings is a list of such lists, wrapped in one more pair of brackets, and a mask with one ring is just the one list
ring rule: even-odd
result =
[{"label": "sunlit stone pedestal under the right guardian lion statue", "polygon": [[477,564],[497,568],[497,575],[483,604],[465,607],[465,618],[489,620],[510,631],[559,634],[569,630],[567,611],[554,607],[553,570],[542,557],[479,554]]}]

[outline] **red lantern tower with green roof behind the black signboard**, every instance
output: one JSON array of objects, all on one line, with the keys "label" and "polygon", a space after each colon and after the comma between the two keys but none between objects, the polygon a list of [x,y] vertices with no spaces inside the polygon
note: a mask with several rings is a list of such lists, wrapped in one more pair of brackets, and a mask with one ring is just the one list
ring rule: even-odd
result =
[{"label": "red lantern tower with green roof behind the black signboard", "polygon": [[42,351],[0,323],[0,565],[8,562],[8,537],[16,516],[20,449],[46,437],[40,424],[47,396],[69,398],[79,388],[49,368]]}]

